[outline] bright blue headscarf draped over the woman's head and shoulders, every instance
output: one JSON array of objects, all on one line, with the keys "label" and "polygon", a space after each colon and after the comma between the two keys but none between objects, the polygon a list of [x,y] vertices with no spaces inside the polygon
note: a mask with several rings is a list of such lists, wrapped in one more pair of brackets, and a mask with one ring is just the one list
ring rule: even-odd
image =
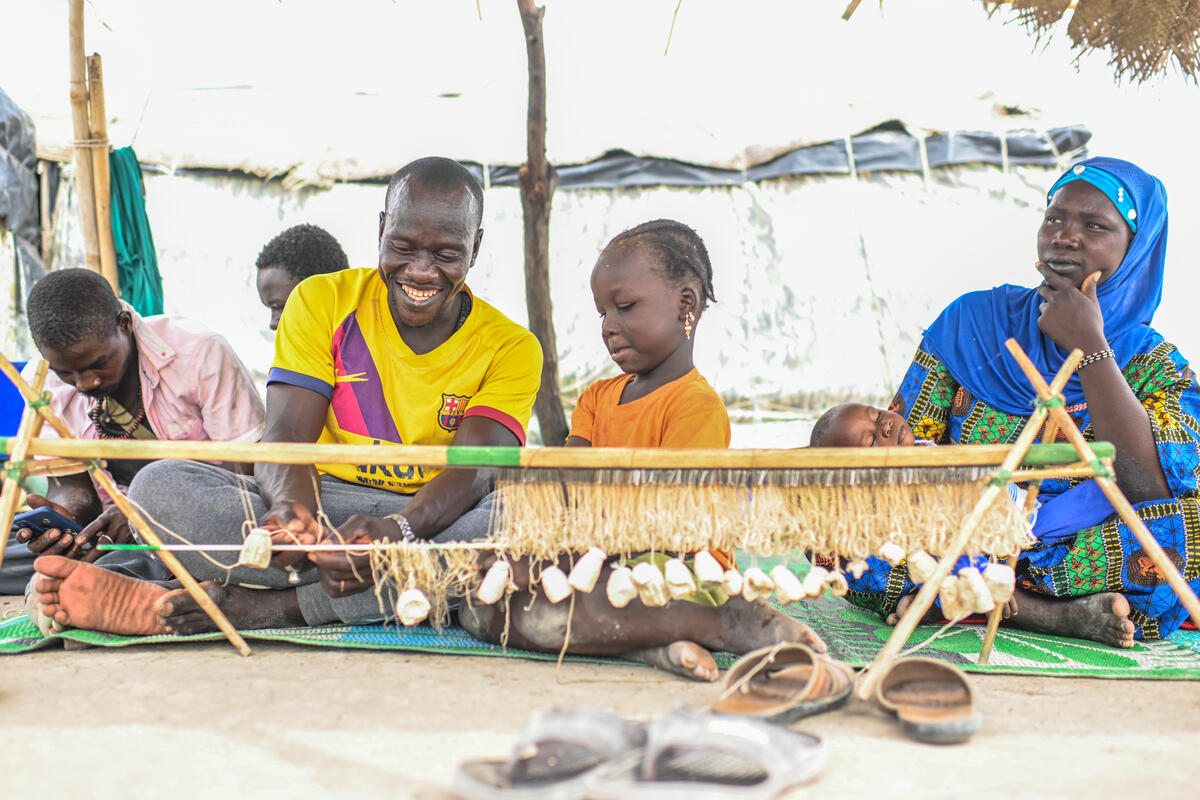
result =
[{"label": "bright blue headscarf draped over the woman's head and shoulders", "polygon": [[[1118,158],[1096,157],[1081,161],[1087,173],[1100,170],[1100,180],[1090,180],[1110,199],[1126,219],[1136,219],[1124,259],[1116,272],[1097,287],[1096,296],[1104,314],[1104,337],[1124,366],[1138,354],[1150,335],[1150,323],[1163,297],[1163,269],[1166,260],[1166,190],[1153,175]],[[1063,179],[1082,178],[1074,168]],[[1115,179],[1115,182],[1105,180]],[[1062,184],[1060,180],[1055,188]],[[1108,187],[1105,187],[1106,185]],[[1116,187],[1130,196],[1117,201]],[[1132,205],[1129,204],[1132,200]],[[1128,211],[1133,209],[1133,217]],[[1130,225],[1133,227],[1133,225]],[[1028,415],[1034,390],[1025,373],[1004,348],[1015,338],[1028,354],[1046,383],[1067,357],[1038,327],[1042,297],[1036,289],[1004,284],[985,291],[965,294],[943,311],[925,331],[925,348],[946,365],[954,379],[992,408],[1008,414]],[[1068,405],[1084,402],[1078,375],[1063,389]],[[1052,543],[1112,513],[1112,506],[1094,486],[1081,483],[1046,503],[1033,533]]]}]

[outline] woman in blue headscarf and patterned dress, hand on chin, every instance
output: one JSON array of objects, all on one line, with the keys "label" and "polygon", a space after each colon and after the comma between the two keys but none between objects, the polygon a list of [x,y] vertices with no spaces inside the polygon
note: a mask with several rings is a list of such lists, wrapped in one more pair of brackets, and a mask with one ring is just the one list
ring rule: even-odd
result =
[{"label": "woman in blue headscarf and patterned dress, hand on chin", "polygon": [[[1116,158],[1088,158],[1051,187],[1038,229],[1042,283],[973,291],[932,325],[892,401],[920,439],[1016,440],[1033,389],[1004,349],[1015,338],[1046,381],[1085,353],[1063,391],[1088,440],[1116,445],[1117,485],[1195,591],[1200,588],[1200,389],[1151,327],[1163,293],[1166,191]],[[1060,434],[1062,437],[1062,434]],[[1030,630],[1133,646],[1187,618],[1175,593],[1092,481],[1042,485],[1038,543],[1021,555],[1015,613]],[[851,596],[889,620],[916,585],[871,560]]]}]

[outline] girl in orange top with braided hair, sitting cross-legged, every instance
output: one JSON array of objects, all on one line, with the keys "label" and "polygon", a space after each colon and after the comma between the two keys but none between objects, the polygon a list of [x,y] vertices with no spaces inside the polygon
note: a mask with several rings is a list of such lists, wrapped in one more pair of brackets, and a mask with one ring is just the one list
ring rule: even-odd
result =
[{"label": "girl in orange top with braided hair, sitting cross-legged", "polygon": [[[713,267],[696,231],[656,219],[618,235],[596,260],[592,294],[605,347],[625,374],[583,391],[566,445],[727,447],[725,404],[692,365],[696,326],[708,301],[715,301]],[[622,655],[694,680],[716,680],[710,650],[740,655],[778,642],[826,649],[805,625],[762,600],[697,593],[660,608],[640,600],[614,608],[605,581],[607,570],[596,590],[576,595],[568,652]],[[509,644],[558,652],[568,608],[522,588],[508,608],[463,606],[460,615],[478,638],[498,642],[509,624]]]}]

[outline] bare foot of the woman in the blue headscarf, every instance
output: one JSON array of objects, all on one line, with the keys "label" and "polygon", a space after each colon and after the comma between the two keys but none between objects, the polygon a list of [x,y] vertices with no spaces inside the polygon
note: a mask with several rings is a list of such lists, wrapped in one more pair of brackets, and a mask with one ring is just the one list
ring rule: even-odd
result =
[{"label": "bare foot of the woman in the blue headscarf", "polygon": [[1016,613],[1010,621],[1038,633],[1092,639],[1114,648],[1133,646],[1129,601],[1114,591],[1060,599],[1018,589]]}]

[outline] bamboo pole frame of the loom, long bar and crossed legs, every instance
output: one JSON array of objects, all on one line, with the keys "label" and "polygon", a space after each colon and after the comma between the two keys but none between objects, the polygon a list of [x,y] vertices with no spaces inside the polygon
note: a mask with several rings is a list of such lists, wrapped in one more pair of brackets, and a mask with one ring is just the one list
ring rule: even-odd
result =
[{"label": "bamboo pole frame of the loom, long bar and crossed legs", "polygon": [[[196,458],[226,462],[264,462],[264,463],[361,463],[395,464],[407,462],[422,467],[516,467],[542,469],[804,469],[804,468],[888,468],[888,467],[964,467],[991,465],[1001,461],[994,480],[989,482],[983,495],[976,503],[971,515],[964,522],[950,547],[938,560],[934,575],[924,583],[913,599],[912,604],[899,620],[887,643],[877,654],[875,661],[865,670],[856,693],[869,698],[880,676],[895,660],[900,649],[912,636],[913,630],[932,604],[941,582],[947,577],[958,558],[965,552],[971,534],[984,517],[991,504],[1004,493],[1008,481],[1038,483],[1048,477],[1093,477],[1102,491],[1139,539],[1156,567],[1166,577],[1168,583],[1178,595],[1193,620],[1200,624],[1200,601],[1183,581],[1175,564],[1166,557],[1153,535],[1138,518],[1133,506],[1124,498],[1111,477],[1111,446],[1087,443],[1075,428],[1062,407],[1061,391],[1082,357],[1080,350],[1074,350],[1063,362],[1050,385],[1046,385],[1040,373],[1020,349],[1015,341],[1007,342],[1009,351],[1021,365],[1022,371],[1037,391],[1038,404],[1022,428],[1018,440],[1012,445],[976,445],[967,447],[810,447],[804,450],[648,450],[619,447],[436,447],[419,445],[395,445],[380,447],[377,445],[318,445],[301,443],[216,443],[216,441],[158,441],[158,440],[80,440],[72,439],[61,419],[49,408],[48,393],[30,386],[6,360],[0,359],[0,371],[8,377],[25,397],[28,407],[22,419],[22,427],[13,438],[13,445],[0,440],[0,452],[11,450],[12,459],[5,473],[4,503],[0,503],[0,525],[11,528],[12,512],[19,495],[19,486],[29,468],[25,461],[31,456],[52,456],[55,469],[65,469],[71,461],[79,468],[88,469],[96,481],[108,492],[113,501],[138,529],[151,546],[162,547],[161,540],[145,523],[142,515],[118,489],[112,477],[102,469],[98,461],[109,458]],[[46,361],[40,361],[37,375],[44,380]],[[35,378],[35,385],[38,385]],[[1057,402],[1055,402],[1057,401]],[[36,411],[36,414],[35,414]],[[1046,438],[1052,439],[1054,427],[1061,428],[1068,437],[1069,445],[1043,445],[1045,453],[1055,453],[1043,459],[1043,463],[1031,464],[1034,469],[1019,469],[1030,457],[1030,446],[1037,439],[1046,419],[1051,417]],[[42,422],[48,422],[62,439],[38,439],[36,437]],[[1048,467],[1048,463],[1061,464],[1062,449],[1072,450],[1080,461],[1066,467]],[[1097,456],[1096,450],[1104,452]],[[36,462],[35,462],[36,464]],[[1042,467],[1042,469],[1037,469]],[[48,471],[48,470],[47,470]],[[230,643],[242,655],[248,655],[250,648],[229,624],[221,609],[199,588],[196,579],[184,569],[170,551],[160,551],[160,558],[184,583],[191,594],[217,626],[226,633]],[[2,564],[2,552],[0,552]],[[989,620],[980,660],[990,654],[998,626],[998,612]]]}]

